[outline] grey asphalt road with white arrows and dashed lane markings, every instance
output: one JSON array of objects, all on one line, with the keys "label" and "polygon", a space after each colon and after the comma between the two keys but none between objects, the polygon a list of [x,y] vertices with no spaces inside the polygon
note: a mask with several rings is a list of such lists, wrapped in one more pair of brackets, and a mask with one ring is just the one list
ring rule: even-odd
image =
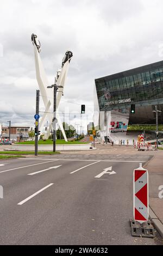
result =
[{"label": "grey asphalt road with white arrows and dashed lane markings", "polygon": [[[150,157],[62,154],[1,160],[0,244],[162,244],[159,236],[132,237],[129,225],[133,169]],[[102,175],[109,167],[116,174]]]}]

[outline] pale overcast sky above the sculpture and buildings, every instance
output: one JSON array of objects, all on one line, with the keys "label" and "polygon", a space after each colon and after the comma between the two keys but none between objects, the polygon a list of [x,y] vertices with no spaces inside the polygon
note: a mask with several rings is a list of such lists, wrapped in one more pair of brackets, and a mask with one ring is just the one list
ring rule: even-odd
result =
[{"label": "pale overcast sky above the sculpture and buildings", "polygon": [[[0,0],[0,123],[34,126],[38,89],[30,36],[49,84],[73,52],[60,111],[93,110],[95,78],[163,58],[162,0]],[[43,104],[41,103],[43,111]],[[73,115],[71,115],[73,119]],[[78,118],[72,121],[79,123]]]}]

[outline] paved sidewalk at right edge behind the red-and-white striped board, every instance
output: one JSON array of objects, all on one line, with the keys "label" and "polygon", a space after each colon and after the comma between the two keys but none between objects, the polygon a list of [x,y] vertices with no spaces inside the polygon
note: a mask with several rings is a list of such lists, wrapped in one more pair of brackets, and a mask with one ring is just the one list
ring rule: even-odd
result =
[{"label": "paved sidewalk at right edge behind the red-and-white striped board", "polygon": [[[163,237],[163,198],[159,198],[159,186],[163,186],[163,151],[159,150],[154,155],[153,159],[145,164],[145,167],[149,173],[149,206],[156,215],[151,216],[155,227],[159,225],[158,231]],[[162,190],[162,189],[161,189]],[[163,192],[161,193],[163,196]],[[149,215],[153,215],[149,212]],[[156,219],[158,218],[158,220]],[[160,221],[160,223],[159,223]],[[162,224],[162,225],[161,225]],[[161,227],[162,226],[162,227]],[[157,227],[156,227],[157,229]],[[161,230],[160,230],[161,229]]]}]

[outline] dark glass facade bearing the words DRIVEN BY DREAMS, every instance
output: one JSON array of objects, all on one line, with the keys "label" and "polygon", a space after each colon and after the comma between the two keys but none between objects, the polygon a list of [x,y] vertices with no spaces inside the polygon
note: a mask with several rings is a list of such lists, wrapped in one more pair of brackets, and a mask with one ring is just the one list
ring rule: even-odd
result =
[{"label": "dark glass facade bearing the words DRIVEN BY DREAMS", "polygon": [[145,115],[155,105],[163,111],[163,61],[98,78],[95,83],[100,111],[130,109],[131,104]]}]

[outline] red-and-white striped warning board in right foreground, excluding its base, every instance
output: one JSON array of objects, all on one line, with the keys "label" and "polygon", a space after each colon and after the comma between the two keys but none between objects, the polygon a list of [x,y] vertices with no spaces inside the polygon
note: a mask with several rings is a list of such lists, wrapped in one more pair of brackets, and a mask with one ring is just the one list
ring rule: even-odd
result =
[{"label": "red-and-white striped warning board in right foreground, excluding its base", "polygon": [[134,170],[133,188],[134,220],[143,223],[148,221],[149,217],[149,197],[148,170],[142,168],[142,163]]}]

